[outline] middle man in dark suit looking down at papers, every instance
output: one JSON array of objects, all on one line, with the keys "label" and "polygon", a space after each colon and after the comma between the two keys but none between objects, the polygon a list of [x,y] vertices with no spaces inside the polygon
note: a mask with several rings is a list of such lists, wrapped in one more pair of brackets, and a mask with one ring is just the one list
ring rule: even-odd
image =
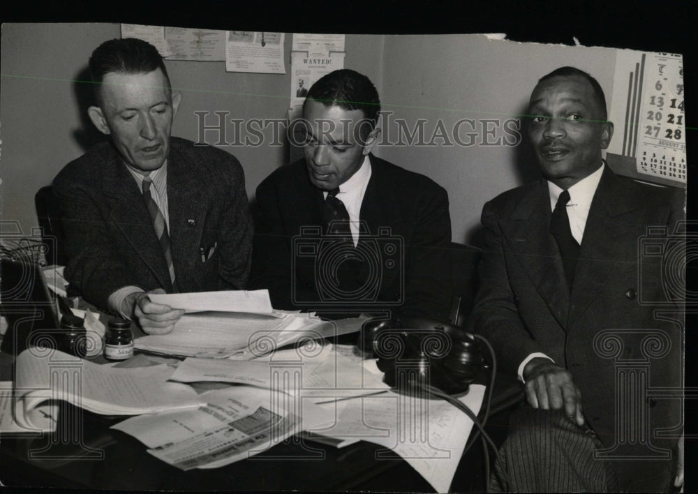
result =
[{"label": "middle man in dark suit looking down at papers", "polygon": [[305,158],[257,188],[251,285],[275,307],[447,318],[447,193],[371,154],[379,111],[368,77],[325,75],[295,125]]}]

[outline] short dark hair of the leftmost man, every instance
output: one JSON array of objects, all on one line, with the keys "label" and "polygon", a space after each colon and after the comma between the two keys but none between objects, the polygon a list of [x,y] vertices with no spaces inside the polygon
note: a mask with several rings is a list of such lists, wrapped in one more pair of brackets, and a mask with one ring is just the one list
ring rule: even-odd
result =
[{"label": "short dark hair of the leftmost man", "polygon": [[89,57],[89,72],[97,103],[101,103],[100,89],[107,73],[147,74],[158,68],[165,75],[170,93],[170,76],[156,47],[137,38],[105,41]]}]

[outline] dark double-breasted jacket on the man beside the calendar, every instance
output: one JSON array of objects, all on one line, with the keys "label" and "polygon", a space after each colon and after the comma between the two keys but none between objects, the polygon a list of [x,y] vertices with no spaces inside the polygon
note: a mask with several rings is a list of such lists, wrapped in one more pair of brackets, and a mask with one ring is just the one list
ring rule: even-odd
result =
[{"label": "dark double-breasted jacket on the man beside the calendar", "polygon": [[[606,447],[619,442],[616,427],[627,425],[617,420],[618,415],[627,417],[627,411],[616,405],[648,413],[652,431],[678,426],[681,406],[676,399],[643,399],[644,410],[637,410],[628,396],[617,399],[621,384],[616,370],[619,360],[638,359],[638,364],[649,364],[646,384],[652,388],[681,385],[681,301],[671,303],[662,290],[662,270],[667,269],[662,262],[668,256],[656,250],[653,255],[639,255],[639,247],[648,226],[665,227],[671,236],[683,218],[683,193],[618,177],[606,167],[589,211],[571,294],[557,244],[548,231],[550,216],[544,180],[509,190],[484,205],[480,289],[471,330],[489,338],[500,368],[513,375],[533,352],[543,352],[570,370],[581,391],[586,420]],[[667,234],[658,237],[653,244],[661,245]],[[659,308],[667,310],[665,319],[655,317]],[[665,335],[655,340],[667,349],[663,355],[651,350],[643,331],[657,329]],[[613,339],[595,340],[618,333],[620,347]],[[614,357],[616,348],[620,354]],[[639,431],[640,425],[634,427]],[[676,443],[652,436],[650,441],[664,448]],[[647,454],[648,447],[639,442],[634,447],[621,444],[618,451]],[[626,460],[615,465],[626,488],[654,468],[669,468],[661,461]]]}]

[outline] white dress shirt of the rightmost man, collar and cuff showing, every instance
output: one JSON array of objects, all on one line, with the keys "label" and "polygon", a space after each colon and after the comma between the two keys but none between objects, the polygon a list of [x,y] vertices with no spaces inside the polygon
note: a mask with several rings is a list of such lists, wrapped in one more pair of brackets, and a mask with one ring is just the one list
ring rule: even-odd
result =
[{"label": "white dress shirt of the rightmost man, collar and cuff showing", "polygon": [[[584,237],[584,228],[586,227],[586,218],[589,216],[589,209],[591,208],[591,201],[594,198],[596,189],[601,181],[601,175],[604,173],[604,164],[598,170],[593,172],[588,177],[584,177],[574,184],[572,187],[567,189],[570,193],[570,202],[567,202],[567,218],[570,219],[570,230],[572,231],[572,237],[577,241],[577,244],[581,245],[581,239]],[[558,197],[563,193],[562,188],[556,186],[551,181],[548,181],[548,192],[550,194],[550,211],[555,210],[555,205],[558,203]],[[523,368],[531,359],[536,357],[542,357],[544,359],[549,359],[553,361],[544,353],[535,352],[521,362],[519,365],[519,379],[523,381]]]}]

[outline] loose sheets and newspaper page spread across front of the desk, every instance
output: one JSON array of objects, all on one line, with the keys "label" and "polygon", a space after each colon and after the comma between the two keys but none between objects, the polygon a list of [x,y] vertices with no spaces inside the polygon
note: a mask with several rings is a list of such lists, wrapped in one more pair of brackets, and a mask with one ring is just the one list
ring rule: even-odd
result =
[{"label": "loose sheets and newspaper page spread across front of the desk", "polygon": [[[202,394],[207,404],[198,410],[133,417],[113,428],[182,470],[227,465],[301,431],[336,447],[364,440],[394,451],[447,492],[473,421],[445,401],[398,394],[382,377],[375,360],[345,345],[252,361],[189,358],[171,380],[245,385]],[[460,401],[477,414],[483,396],[484,387],[473,384]]]}]

